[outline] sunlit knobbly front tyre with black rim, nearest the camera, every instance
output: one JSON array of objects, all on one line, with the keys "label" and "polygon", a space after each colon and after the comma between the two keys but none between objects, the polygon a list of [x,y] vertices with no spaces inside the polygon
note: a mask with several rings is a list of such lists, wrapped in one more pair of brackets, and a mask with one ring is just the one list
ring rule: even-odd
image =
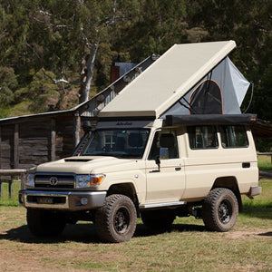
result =
[{"label": "sunlit knobbly front tyre with black rim, nearest the camera", "polygon": [[137,212],[132,200],[124,195],[107,197],[95,214],[95,227],[103,242],[121,243],[132,238]]}]

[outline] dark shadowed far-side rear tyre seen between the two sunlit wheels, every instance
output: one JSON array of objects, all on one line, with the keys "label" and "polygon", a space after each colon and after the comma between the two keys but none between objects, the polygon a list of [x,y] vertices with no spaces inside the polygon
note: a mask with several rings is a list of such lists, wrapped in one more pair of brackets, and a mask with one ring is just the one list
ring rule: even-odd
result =
[{"label": "dark shadowed far-side rear tyre seen between the two sunlit wheels", "polygon": [[176,215],[171,209],[142,210],[141,220],[147,228],[167,230],[173,224]]}]

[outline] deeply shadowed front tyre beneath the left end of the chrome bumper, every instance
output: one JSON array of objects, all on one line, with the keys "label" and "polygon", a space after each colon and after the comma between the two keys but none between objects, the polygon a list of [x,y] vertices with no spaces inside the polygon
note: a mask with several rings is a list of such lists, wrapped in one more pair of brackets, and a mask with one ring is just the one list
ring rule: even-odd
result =
[{"label": "deeply shadowed front tyre beneath the left end of the chrome bumper", "polygon": [[26,221],[36,237],[55,237],[63,232],[66,224],[63,214],[43,209],[27,209]]}]

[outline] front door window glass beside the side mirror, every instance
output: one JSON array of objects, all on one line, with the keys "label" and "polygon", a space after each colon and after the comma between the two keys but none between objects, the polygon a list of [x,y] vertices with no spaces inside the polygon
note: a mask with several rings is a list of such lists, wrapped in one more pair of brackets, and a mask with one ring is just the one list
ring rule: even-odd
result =
[{"label": "front door window glass beside the side mirror", "polygon": [[158,156],[161,160],[179,158],[178,141],[174,132],[157,131],[155,133],[148,160],[156,160]]}]

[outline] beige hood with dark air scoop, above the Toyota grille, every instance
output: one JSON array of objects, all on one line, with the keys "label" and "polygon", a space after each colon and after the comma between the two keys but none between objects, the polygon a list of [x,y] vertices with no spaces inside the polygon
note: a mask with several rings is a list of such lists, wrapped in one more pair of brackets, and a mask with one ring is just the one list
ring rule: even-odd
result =
[{"label": "beige hood with dark air scoop, above the Toyota grille", "polygon": [[40,164],[36,167],[38,172],[69,172],[76,174],[101,174],[133,168],[135,160],[118,159],[104,156],[69,157]]}]

